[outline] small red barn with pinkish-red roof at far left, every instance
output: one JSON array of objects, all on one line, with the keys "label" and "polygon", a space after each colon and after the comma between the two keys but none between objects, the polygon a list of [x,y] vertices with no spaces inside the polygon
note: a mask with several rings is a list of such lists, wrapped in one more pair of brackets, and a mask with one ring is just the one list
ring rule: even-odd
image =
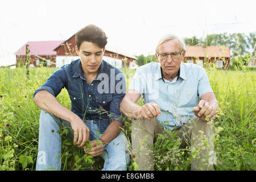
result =
[{"label": "small red barn with pinkish-red roof at far left", "polygon": [[[64,40],[27,42],[14,53],[16,55],[16,67],[26,65],[27,58],[32,67],[38,67],[40,63],[43,66],[55,67],[56,51],[53,49],[63,42]],[[29,50],[28,53],[27,49]]]}]

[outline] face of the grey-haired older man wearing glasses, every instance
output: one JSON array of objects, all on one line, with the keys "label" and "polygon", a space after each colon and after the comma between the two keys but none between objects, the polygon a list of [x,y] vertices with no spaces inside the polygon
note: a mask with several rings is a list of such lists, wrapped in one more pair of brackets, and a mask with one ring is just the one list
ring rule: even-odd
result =
[{"label": "face of the grey-haired older man wearing glasses", "polygon": [[155,56],[161,65],[162,76],[167,80],[172,81],[179,72],[181,61],[185,57],[185,51],[181,52],[181,49],[180,43],[176,39],[168,40],[158,47]]}]

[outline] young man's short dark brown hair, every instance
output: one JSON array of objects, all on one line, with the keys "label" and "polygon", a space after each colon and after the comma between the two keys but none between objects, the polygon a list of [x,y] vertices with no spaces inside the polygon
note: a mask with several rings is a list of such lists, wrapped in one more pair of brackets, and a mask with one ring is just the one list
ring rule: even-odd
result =
[{"label": "young man's short dark brown hair", "polygon": [[108,38],[101,28],[95,26],[94,24],[89,24],[88,26],[82,28],[76,33],[76,46],[80,49],[83,42],[91,42],[96,44],[100,48],[104,48],[108,43]]}]

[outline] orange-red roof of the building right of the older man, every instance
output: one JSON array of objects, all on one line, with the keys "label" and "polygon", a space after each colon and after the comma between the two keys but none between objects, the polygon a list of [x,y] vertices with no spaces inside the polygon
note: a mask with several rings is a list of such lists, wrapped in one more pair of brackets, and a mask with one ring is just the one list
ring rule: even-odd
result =
[{"label": "orange-red roof of the building right of the older man", "polygon": [[186,46],[185,57],[230,57],[228,46]]}]

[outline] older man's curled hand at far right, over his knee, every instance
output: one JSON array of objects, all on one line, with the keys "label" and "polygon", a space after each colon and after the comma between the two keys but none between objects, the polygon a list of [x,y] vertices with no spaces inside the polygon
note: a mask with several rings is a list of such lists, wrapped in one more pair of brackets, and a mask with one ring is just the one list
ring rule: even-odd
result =
[{"label": "older man's curled hand at far right, over his knee", "polygon": [[203,121],[206,121],[207,115],[209,119],[216,119],[217,110],[217,104],[210,104],[210,102],[204,100],[201,100],[196,107],[193,107],[193,113]]}]

